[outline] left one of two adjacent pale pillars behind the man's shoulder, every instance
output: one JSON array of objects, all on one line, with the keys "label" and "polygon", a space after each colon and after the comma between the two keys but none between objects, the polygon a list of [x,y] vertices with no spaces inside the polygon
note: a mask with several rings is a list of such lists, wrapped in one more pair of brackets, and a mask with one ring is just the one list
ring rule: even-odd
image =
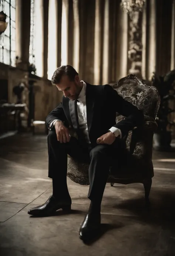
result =
[{"label": "left one of two adjacent pale pillars behind the man's shoulder", "polygon": [[102,64],[102,0],[95,1],[94,84],[100,84]]}]

